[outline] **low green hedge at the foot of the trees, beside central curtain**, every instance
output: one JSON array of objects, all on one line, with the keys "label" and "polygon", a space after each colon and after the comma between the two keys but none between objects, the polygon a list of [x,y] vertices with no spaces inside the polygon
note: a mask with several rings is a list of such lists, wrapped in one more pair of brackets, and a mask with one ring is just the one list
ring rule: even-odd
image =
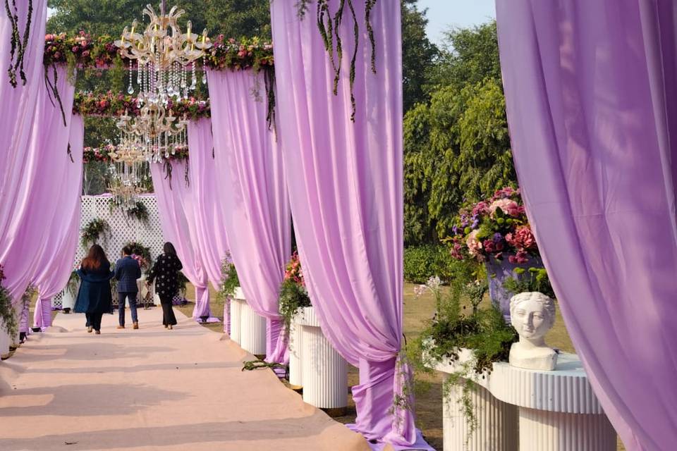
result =
[{"label": "low green hedge at the foot of the trees, beside central curtain", "polygon": [[410,283],[425,283],[431,276],[449,281],[455,265],[457,262],[445,246],[422,245],[404,249],[404,280]]}]

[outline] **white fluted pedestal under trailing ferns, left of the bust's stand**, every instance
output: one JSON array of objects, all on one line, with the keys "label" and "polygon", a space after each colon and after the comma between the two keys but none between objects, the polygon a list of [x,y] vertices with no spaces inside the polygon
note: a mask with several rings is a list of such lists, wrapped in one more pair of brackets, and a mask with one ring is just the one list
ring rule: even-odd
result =
[{"label": "white fluted pedestal under trailing ferns, left of the bust's stand", "polygon": [[[445,380],[449,378],[444,375]],[[453,385],[444,397],[444,449],[468,451],[517,450],[517,407],[497,400],[480,386],[470,389],[470,404],[477,419],[471,431],[469,419],[463,412],[463,389]]]}]

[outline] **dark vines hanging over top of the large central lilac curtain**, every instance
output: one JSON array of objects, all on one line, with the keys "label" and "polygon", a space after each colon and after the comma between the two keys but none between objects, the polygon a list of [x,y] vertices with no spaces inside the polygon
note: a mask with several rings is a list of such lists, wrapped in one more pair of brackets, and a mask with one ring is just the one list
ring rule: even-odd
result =
[{"label": "dark vines hanging over top of the large central lilac curtain", "polygon": [[[296,4],[297,13],[300,19],[303,20],[310,6],[312,0],[299,0]],[[376,40],[374,39],[374,28],[371,23],[371,13],[376,6],[377,0],[365,1],[365,23],[367,27],[367,34],[369,35],[370,44],[372,47],[371,68],[372,72],[376,73]],[[360,25],[355,13],[355,6],[353,0],[339,0],[336,13],[333,15],[329,11],[329,0],[317,0],[317,28],[322,42],[324,42],[324,49],[329,55],[329,62],[331,68],[334,70],[334,95],[338,95],[338,81],[341,79],[341,61],[343,60],[343,41],[341,39],[341,23],[343,16],[346,14],[346,4],[350,17],[353,19],[353,39],[354,48],[353,54],[350,56],[350,104],[352,105],[352,113],[350,113],[350,121],[355,122],[355,112],[357,105],[355,104],[355,61],[357,61],[358,47],[360,45]],[[336,54],[336,57],[334,57]]]}]

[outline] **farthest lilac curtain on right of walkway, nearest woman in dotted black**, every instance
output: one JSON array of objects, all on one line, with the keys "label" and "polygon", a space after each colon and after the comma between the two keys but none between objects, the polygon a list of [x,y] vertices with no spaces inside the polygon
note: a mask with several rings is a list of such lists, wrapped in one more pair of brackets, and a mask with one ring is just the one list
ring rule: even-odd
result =
[{"label": "farthest lilac curtain on right of walkway, nearest woman in dotted black", "polygon": [[198,245],[200,218],[195,209],[197,194],[195,187],[185,180],[187,164],[183,161],[171,163],[171,178],[163,171],[162,163],[151,164],[150,170],[162,234],[176,247],[178,258],[183,264],[183,273],[195,285],[193,319],[206,316],[213,320],[209,310],[209,279]]}]

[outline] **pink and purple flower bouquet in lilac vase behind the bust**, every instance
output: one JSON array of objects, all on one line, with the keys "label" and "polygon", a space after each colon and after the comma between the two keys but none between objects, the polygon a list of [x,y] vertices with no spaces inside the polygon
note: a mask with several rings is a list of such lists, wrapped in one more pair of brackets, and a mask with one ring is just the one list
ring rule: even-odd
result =
[{"label": "pink and purple flower bouquet in lilac vase behind the bust", "polygon": [[508,257],[513,264],[525,264],[540,257],[520,192],[512,187],[465,206],[452,230],[454,235],[446,241],[451,244],[451,256],[458,260],[482,263]]}]

